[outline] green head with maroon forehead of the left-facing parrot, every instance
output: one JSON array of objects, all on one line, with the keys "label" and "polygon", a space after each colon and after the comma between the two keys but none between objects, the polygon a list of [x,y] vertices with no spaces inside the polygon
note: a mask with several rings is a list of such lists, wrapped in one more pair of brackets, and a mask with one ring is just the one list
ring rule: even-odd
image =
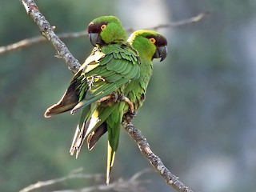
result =
[{"label": "green head with maroon forehead of the left-facing parrot", "polygon": [[114,16],[102,16],[90,22],[87,28],[93,46],[104,46],[113,42],[126,42],[126,31]]}]

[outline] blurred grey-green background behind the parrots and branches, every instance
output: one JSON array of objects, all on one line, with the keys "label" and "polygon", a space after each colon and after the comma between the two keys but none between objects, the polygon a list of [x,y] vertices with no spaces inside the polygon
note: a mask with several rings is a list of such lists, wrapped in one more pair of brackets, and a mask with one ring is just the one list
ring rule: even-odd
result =
[{"label": "blurred grey-green background behind the parrots and branches", "polygon": [[[152,150],[194,191],[254,191],[256,184],[256,1],[37,0],[57,34],[85,30],[101,15],[123,26],[148,28],[210,14],[188,26],[158,30],[168,40],[164,62],[154,61],[146,102],[134,125]],[[0,46],[40,35],[20,1],[2,0]],[[64,41],[80,62],[90,54],[88,38]],[[0,190],[18,191],[83,167],[105,174],[106,136],[78,159],[69,149],[79,114],[44,118],[72,77],[64,60],[43,42],[0,54]],[[112,182],[128,179],[150,163],[122,130]],[[152,171],[145,191],[174,191]],[[80,189],[98,183],[76,179],[37,191]],[[129,190],[127,190],[129,191]]]}]

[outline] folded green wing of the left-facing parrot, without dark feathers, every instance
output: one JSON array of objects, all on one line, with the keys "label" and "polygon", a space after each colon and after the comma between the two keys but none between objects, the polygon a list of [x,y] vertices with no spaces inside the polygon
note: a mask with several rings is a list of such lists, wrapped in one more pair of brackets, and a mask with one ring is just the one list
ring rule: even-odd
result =
[{"label": "folded green wing of the left-facing parrot, without dark feathers", "polygon": [[86,64],[83,71],[74,78],[79,100],[71,113],[114,91],[121,92],[126,83],[140,75],[137,52],[130,46],[112,44],[101,50],[94,49],[94,54],[99,51],[103,53],[102,58]]}]

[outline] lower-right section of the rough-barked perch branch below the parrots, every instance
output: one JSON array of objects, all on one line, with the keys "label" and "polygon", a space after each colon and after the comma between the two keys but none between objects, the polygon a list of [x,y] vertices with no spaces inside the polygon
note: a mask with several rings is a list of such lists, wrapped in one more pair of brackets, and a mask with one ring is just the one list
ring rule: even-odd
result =
[{"label": "lower-right section of the rough-barked perch branch below the parrots", "polygon": [[175,190],[179,192],[193,192],[182,182],[178,180],[174,174],[170,173],[170,170],[166,168],[160,158],[150,150],[150,145],[146,141],[146,138],[142,135],[140,130],[137,130],[134,125],[131,123],[132,116],[126,114],[123,118],[122,126],[130,134],[131,138],[134,138],[134,141],[137,143],[139,150],[144,154],[144,156],[149,160],[151,165],[154,167],[154,170],[157,170],[159,174],[162,175],[162,178],[172,186]]}]

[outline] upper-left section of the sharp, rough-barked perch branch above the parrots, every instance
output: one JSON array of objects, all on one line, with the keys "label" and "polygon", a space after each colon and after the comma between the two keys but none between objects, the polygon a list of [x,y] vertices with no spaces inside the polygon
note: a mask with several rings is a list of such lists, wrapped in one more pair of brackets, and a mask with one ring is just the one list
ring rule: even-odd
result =
[{"label": "upper-left section of the sharp, rough-barked perch branch above the parrots", "polygon": [[57,50],[58,57],[65,60],[66,65],[70,70],[72,70],[73,73],[77,72],[79,66],[81,66],[80,63],[72,54],[70,54],[70,51],[66,48],[65,44],[54,33],[54,27],[50,26],[50,23],[39,12],[38,6],[35,4],[35,2],[33,0],[21,1],[26,9],[26,13],[33,18],[34,22],[36,22],[42,35],[49,40],[53,44],[54,49]]}]

